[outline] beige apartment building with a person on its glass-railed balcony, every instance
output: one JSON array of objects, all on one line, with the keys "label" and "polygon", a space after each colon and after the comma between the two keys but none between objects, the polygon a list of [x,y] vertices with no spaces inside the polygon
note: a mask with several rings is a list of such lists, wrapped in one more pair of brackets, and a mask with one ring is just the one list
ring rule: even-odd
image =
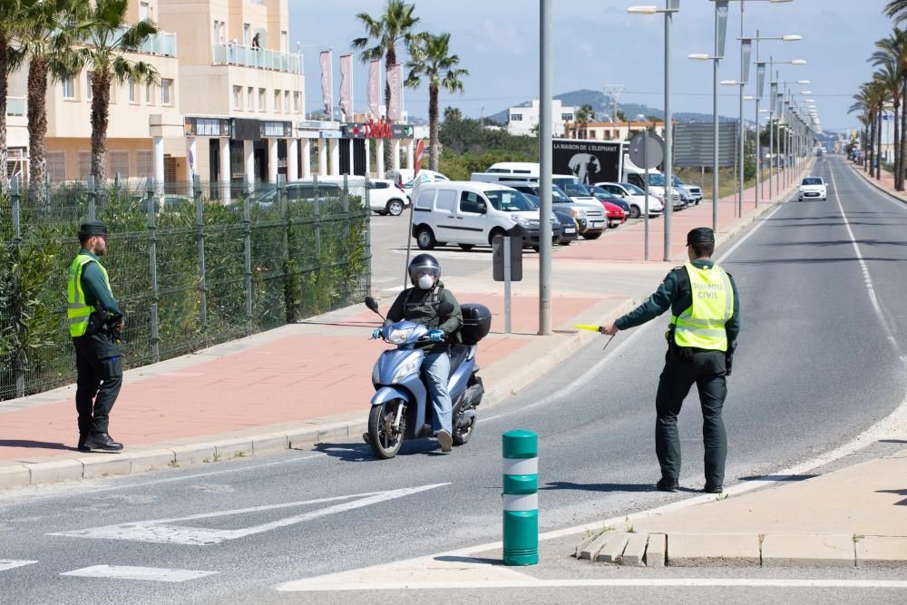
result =
[{"label": "beige apartment building with a person on its glass-railed balcony", "polygon": [[180,39],[186,177],[255,183],[307,174],[308,141],[294,126],[305,116],[305,77],[290,48],[288,0],[157,4],[161,28]]}]

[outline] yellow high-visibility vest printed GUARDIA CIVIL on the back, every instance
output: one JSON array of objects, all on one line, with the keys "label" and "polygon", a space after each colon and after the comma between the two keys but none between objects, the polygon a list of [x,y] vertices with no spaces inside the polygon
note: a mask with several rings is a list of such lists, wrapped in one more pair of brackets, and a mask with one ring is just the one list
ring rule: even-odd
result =
[{"label": "yellow high-visibility vest printed GUARDIA CIVIL on the back", "polygon": [[689,275],[693,304],[671,317],[674,342],[713,351],[727,351],[725,324],[734,315],[734,288],[723,268],[684,265]]}]

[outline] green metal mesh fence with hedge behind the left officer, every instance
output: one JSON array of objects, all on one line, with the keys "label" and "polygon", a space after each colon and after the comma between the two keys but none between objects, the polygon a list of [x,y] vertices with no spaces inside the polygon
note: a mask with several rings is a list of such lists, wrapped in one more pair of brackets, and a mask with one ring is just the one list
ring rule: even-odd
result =
[{"label": "green metal mesh fence with hedge behind the left officer", "polygon": [[184,189],[191,195],[89,180],[0,193],[0,400],[73,382],[66,280],[86,219],[111,232],[102,264],[126,317],[127,366],[369,293],[366,181]]}]

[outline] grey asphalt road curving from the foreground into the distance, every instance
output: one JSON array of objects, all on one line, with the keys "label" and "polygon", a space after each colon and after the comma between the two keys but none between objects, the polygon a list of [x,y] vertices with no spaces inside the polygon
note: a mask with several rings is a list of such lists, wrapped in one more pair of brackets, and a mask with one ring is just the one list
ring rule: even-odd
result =
[{"label": "grey asphalt road curving from the foreground into the distance", "polygon": [[[786,203],[724,262],[741,293],[743,320],[725,415],[727,484],[833,449],[904,399],[907,264],[898,261],[907,259],[907,207],[859,181],[839,159],[817,162],[816,172],[832,183],[827,201]],[[540,436],[543,530],[687,498],[702,484],[695,394],[680,418],[688,491],[652,489],[664,323],[621,333],[604,363],[604,340],[581,350],[486,412],[473,441],[451,455],[422,441],[376,462],[362,442],[322,444],[2,493],[0,600],[268,602],[278,599],[272,587],[282,581],[493,542],[500,537],[500,434],[512,428]],[[312,502],[324,499],[333,500]],[[2,560],[35,562],[5,569]],[[93,566],[214,573],[180,582],[61,575]],[[95,572],[103,571],[79,571]],[[752,592],[715,594],[741,600]],[[820,589],[795,594],[828,596]],[[621,595],[642,601],[666,592]],[[501,596],[483,598],[492,599]]]}]

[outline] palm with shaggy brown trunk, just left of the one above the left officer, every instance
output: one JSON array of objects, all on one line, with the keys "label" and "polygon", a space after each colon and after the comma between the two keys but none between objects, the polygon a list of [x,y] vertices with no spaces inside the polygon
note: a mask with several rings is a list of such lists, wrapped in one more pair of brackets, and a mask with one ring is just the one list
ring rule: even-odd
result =
[{"label": "palm with shaggy brown trunk, just left of the one above the left officer", "polygon": [[83,0],[23,0],[18,50],[28,60],[28,172],[30,187],[44,196],[47,159],[47,85],[77,72],[73,47],[78,42],[77,13]]}]

